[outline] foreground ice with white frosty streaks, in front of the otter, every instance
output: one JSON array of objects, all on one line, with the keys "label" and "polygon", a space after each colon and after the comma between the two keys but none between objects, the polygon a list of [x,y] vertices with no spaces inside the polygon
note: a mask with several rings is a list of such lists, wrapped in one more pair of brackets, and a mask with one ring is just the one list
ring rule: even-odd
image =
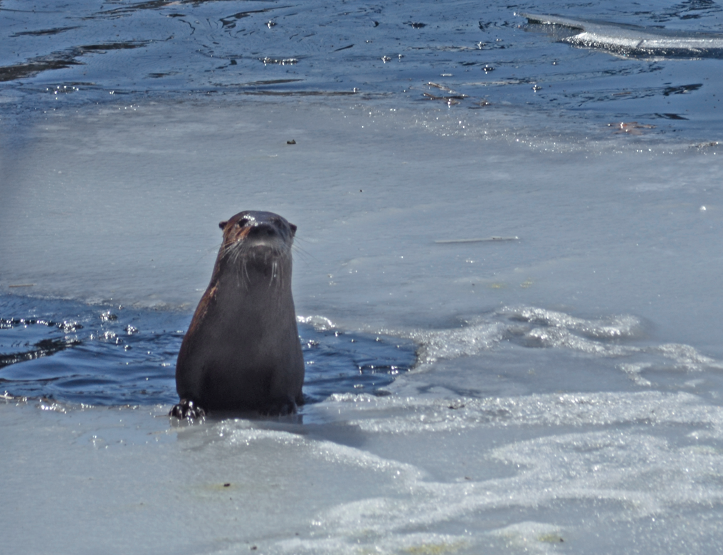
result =
[{"label": "foreground ice with white frosty streaks, in front of the otter", "polygon": [[39,551],[52,541],[56,552],[88,553],[716,545],[723,414],[696,395],[456,405],[345,395],[309,410],[317,423],[169,428],[162,407],[0,406],[5,545]]}]

